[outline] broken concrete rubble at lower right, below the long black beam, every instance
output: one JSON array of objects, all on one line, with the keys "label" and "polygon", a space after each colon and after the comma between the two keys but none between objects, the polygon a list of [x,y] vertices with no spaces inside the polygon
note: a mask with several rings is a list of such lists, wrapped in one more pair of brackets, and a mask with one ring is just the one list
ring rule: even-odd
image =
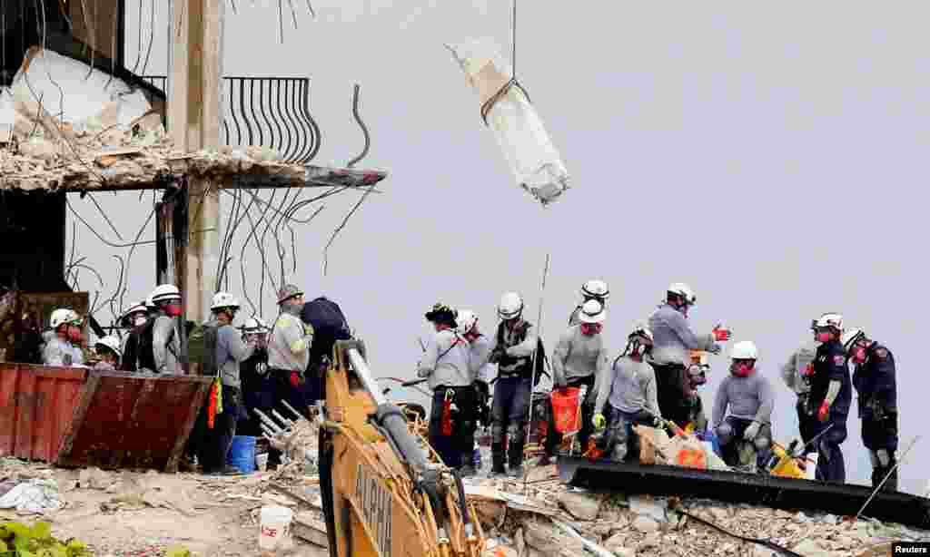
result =
[{"label": "broken concrete rubble at lower right, below the long black beam", "polygon": [[466,492],[490,539],[486,554],[506,557],[778,554],[728,536],[687,514],[736,536],[768,540],[805,557],[870,557],[887,554],[891,541],[930,541],[928,531],[868,518],[854,520],[710,499],[596,495],[555,479],[525,484],[522,480],[473,479]]}]

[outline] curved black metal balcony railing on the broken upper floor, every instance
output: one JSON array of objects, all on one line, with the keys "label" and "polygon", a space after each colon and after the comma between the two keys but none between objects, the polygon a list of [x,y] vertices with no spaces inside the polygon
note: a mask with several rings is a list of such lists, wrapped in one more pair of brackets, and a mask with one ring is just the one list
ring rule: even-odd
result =
[{"label": "curved black metal balcony railing on the broken upper floor", "polygon": [[[166,91],[167,77],[143,80]],[[226,145],[260,145],[278,150],[286,162],[310,162],[320,149],[320,128],[310,114],[310,80],[305,77],[223,78]]]}]

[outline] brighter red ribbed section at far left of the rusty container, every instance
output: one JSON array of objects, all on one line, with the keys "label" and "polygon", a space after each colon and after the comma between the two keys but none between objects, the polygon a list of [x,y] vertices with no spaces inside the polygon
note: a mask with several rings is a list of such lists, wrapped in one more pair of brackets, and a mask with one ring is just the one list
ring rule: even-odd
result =
[{"label": "brighter red ribbed section at far left of the rusty container", "polygon": [[0,363],[0,457],[54,461],[87,371]]}]

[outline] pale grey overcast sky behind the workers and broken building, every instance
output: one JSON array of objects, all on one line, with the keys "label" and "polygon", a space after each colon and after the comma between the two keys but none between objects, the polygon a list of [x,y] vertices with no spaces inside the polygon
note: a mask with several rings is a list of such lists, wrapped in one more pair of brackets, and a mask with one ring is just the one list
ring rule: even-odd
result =
[{"label": "pale grey overcast sky behind the workers and broken building", "polygon": [[[838,311],[896,356],[902,447],[922,433],[925,4],[520,3],[518,77],[572,175],[573,188],[542,211],[513,183],[443,47],[490,36],[509,52],[509,3],[312,3],[316,20],[293,3],[297,30],[285,3],[284,45],[276,2],[237,0],[237,14],[227,5],[224,72],[310,77],[324,134],[317,163],[345,164],[361,149],[350,101],[362,85],[372,146],[360,166],[390,173],[384,194],[342,232],[324,280],[322,246],[355,194],[327,205],[302,230],[294,280],[341,304],[377,374],[413,375],[423,313],[436,301],[472,308],[492,330],[499,295],[520,291],[536,321],[549,253],[550,349],[585,279],[609,281],[604,334],[615,354],[669,283],[686,281],[698,331],[724,320],[736,340],[758,344],[777,385],[775,434],[787,442],[796,418],[777,368],[809,338],[813,317]],[[157,4],[148,73],[166,71]],[[139,6],[127,5],[132,60]],[[143,1],[146,30],[149,8]],[[133,194],[101,199],[126,228],[147,214]],[[78,235],[106,266],[109,252]],[[153,287],[152,252],[137,253],[132,299]],[[266,293],[269,319],[270,302]],[[712,364],[707,408],[726,373],[724,356]],[[843,448],[849,480],[868,483],[859,424],[854,409]],[[923,439],[902,485],[922,490],[928,460]]]}]

